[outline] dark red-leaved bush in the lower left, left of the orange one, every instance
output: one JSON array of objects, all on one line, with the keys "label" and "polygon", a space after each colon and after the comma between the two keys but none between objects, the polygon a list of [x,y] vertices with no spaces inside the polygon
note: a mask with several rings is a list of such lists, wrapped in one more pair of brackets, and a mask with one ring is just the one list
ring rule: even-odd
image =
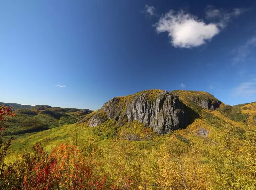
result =
[{"label": "dark red-leaved bush in the lower left, left of the orange one", "polygon": [[[5,171],[6,182],[14,190],[48,190],[56,185],[56,159],[36,143],[33,153],[24,151]],[[57,182],[57,183],[56,183]]]}]

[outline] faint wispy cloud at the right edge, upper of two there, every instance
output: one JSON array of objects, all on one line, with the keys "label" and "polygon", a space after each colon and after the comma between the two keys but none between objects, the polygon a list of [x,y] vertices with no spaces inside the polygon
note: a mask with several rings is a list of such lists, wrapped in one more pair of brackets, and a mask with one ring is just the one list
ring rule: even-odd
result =
[{"label": "faint wispy cloud at the right edge, upper of two there", "polygon": [[247,56],[251,53],[251,48],[256,46],[256,36],[248,40],[244,45],[233,49],[233,53],[236,54],[234,57],[234,62],[244,61]]}]

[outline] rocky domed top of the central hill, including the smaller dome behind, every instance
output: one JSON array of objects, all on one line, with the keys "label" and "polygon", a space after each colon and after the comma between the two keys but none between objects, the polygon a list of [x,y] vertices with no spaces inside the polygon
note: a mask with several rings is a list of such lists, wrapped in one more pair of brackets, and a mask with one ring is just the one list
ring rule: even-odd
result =
[{"label": "rocky domed top of the central hill, including the smaller dome behind", "polygon": [[179,99],[179,95],[184,102],[192,102],[190,107],[198,105],[207,110],[215,110],[222,103],[205,92],[145,90],[109,100],[101,109],[89,114],[84,121],[95,127],[108,119],[117,121],[119,126],[137,120],[146,123],[146,126],[152,127],[158,134],[164,134],[185,128],[199,116]]}]

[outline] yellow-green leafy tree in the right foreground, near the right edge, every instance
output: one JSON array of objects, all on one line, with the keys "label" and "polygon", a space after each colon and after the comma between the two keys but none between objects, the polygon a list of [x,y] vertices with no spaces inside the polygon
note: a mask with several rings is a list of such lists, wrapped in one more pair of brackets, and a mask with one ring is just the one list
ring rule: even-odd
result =
[{"label": "yellow-green leafy tree in the right foreground, near the right edge", "polygon": [[215,172],[211,178],[215,189],[244,189],[246,176],[241,155],[241,142],[229,130],[216,134],[207,148],[207,159]]}]

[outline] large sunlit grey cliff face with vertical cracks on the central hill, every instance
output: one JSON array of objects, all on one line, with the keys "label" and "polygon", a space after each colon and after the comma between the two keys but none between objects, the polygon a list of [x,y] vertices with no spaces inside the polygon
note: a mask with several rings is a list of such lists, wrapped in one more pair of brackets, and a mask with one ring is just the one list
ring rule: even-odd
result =
[{"label": "large sunlit grey cliff face with vertical cracks on the central hill", "polygon": [[[160,91],[156,98],[149,99],[146,93],[133,96],[132,100],[113,98],[106,102],[100,111],[104,111],[109,119],[114,119],[118,125],[137,120],[146,123],[158,134],[164,134],[172,129],[187,126],[184,104],[179,97],[168,91]],[[94,115],[89,126],[104,122],[105,117]]]}]

